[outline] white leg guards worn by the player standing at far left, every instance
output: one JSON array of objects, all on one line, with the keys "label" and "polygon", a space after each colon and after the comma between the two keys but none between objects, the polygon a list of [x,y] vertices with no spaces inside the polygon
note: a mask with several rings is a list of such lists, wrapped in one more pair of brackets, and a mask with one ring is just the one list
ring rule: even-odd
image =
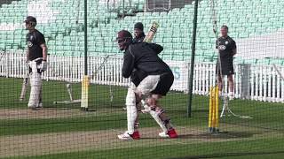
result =
[{"label": "white leg guards worn by the player standing at far left", "polygon": [[40,102],[42,75],[37,72],[36,62],[30,62],[29,66],[32,68],[32,72],[30,73],[30,95],[28,107],[36,108]]}]

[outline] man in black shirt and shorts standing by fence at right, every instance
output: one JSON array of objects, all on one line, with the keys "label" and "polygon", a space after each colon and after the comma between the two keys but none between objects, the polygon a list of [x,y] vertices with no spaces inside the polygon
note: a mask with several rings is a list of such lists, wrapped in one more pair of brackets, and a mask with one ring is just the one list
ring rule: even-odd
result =
[{"label": "man in black shirt and shorts standing by fence at right", "polygon": [[222,79],[226,75],[229,81],[229,99],[233,100],[233,56],[237,53],[237,47],[236,42],[228,35],[228,27],[222,26],[220,31],[221,37],[217,39],[217,49],[220,56],[220,61],[217,61],[218,88],[222,92]]}]

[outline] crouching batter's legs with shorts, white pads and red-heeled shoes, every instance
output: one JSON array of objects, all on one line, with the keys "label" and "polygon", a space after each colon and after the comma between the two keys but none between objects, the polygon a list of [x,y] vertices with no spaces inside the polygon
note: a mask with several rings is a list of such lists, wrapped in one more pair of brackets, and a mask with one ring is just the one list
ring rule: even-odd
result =
[{"label": "crouching batter's legs with shorts, white pads and red-heeled shoes", "polygon": [[[170,74],[172,77],[172,74]],[[138,87],[132,85],[128,89],[126,96],[126,109],[127,109],[127,127],[128,131],[118,135],[120,140],[138,140],[140,135],[138,133],[138,110],[139,105],[144,106],[148,112],[162,128],[162,133],[159,136],[163,138],[177,138],[177,133],[173,126],[170,124],[170,117],[168,117],[162,106],[158,104],[158,100],[162,95],[166,95],[173,82],[169,82],[169,75],[149,75],[141,81]]]}]

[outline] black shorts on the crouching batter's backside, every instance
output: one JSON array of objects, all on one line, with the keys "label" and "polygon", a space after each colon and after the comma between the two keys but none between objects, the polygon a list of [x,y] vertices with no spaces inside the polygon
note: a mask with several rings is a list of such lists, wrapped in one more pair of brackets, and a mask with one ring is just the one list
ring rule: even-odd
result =
[{"label": "black shorts on the crouching batter's backside", "polygon": [[151,93],[155,95],[167,95],[167,93],[170,91],[170,87],[172,86],[173,82],[174,75],[172,74],[172,72],[162,74],[160,76],[160,80],[157,84],[157,87],[155,87]]}]

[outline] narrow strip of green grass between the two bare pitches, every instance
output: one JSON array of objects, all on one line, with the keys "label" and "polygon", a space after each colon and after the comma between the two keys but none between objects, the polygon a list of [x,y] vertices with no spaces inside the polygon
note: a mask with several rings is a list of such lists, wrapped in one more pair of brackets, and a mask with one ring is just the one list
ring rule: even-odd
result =
[{"label": "narrow strip of green grass between the two bare pitches", "polygon": [[[188,118],[172,118],[175,125],[204,126],[205,123]],[[126,128],[126,114],[110,117],[74,117],[57,119],[1,120],[0,136],[73,131],[97,131]],[[149,116],[140,118],[141,127],[156,126]],[[204,126],[206,129],[206,126]]]}]

